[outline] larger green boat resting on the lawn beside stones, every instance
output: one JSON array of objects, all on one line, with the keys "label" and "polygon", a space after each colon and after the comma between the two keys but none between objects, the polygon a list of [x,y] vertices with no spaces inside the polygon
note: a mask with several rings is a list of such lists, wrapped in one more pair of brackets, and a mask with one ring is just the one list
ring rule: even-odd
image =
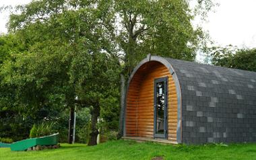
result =
[{"label": "larger green boat resting on the lawn beside stones", "polygon": [[11,151],[26,151],[30,147],[50,146],[57,145],[59,143],[59,133],[52,134],[50,136],[42,136],[39,138],[29,138],[22,141],[11,143]]}]

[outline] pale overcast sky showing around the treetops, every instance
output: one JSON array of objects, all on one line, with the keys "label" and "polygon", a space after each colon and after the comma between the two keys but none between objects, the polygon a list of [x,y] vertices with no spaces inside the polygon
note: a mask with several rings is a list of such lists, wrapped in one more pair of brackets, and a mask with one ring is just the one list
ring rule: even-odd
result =
[{"label": "pale overcast sky showing around the treetops", "polygon": [[[0,0],[2,5],[21,5],[31,0]],[[203,29],[208,30],[218,45],[256,48],[256,1],[218,0],[219,7],[210,13]],[[6,33],[8,13],[0,13],[0,33]],[[197,23],[197,22],[195,22]]]}]

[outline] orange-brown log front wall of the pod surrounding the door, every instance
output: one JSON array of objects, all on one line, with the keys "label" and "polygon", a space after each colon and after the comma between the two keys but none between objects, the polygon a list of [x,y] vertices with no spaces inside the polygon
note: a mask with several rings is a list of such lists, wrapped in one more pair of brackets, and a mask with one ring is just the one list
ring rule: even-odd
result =
[{"label": "orange-brown log front wall of the pod surrounding the door", "polygon": [[142,65],[129,84],[126,136],[154,138],[154,79],[168,76],[168,140],[177,141],[177,92],[168,69],[156,61]]}]

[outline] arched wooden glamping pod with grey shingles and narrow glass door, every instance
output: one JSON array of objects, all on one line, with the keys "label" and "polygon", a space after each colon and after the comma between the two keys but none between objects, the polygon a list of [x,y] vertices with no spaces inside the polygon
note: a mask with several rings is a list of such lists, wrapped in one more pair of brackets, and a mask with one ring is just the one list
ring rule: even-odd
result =
[{"label": "arched wooden glamping pod with grey shingles and narrow glass door", "polygon": [[124,138],[256,141],[255,72],[148,55],[129,78],[125,103]]}]

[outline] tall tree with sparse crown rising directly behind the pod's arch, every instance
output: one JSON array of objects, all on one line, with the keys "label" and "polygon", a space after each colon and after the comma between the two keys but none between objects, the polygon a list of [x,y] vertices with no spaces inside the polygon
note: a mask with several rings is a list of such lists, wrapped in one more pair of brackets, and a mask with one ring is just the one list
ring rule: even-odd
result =
[{"label": "tall tree with sparse crown rising directly behind the pod's arch", "polygon": [[108,1],[108,11],[114,16],[102,19],[102,22],[123,62],[119,136],[123,136],[126,81],[135,65],[146,54],[194,61],[203,31],[199,27],[193,28],[191,21],[199,14],[206,17],[213,6],[212,1],[198,1],[195,10],[186,0]]}]

